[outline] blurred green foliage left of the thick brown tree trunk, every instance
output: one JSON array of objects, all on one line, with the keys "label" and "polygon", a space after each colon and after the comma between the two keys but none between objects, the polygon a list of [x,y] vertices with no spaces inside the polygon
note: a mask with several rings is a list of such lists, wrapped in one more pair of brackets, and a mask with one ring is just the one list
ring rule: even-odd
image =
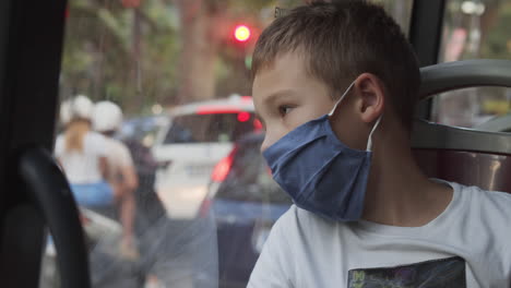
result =
[{"label": "blurred green foliage left of the thick brown tree trunk", "polygon": [[81,93],[136,111],[176,84],[176,11],[163,1],[145,1],[140,8],[140,38],[135,44],[134,11],[112,2],[118,1],[70,1],[62,96]]}]

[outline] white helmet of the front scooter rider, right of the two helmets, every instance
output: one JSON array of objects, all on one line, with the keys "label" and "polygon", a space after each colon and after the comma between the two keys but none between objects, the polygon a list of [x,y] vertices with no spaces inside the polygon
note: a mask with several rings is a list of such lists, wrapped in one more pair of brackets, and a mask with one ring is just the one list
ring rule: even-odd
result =
[{"label": "white helmet of the front scooter rider, right of the two helmets", "polygon": [[122,124],[122,110],[111,101],[99,101],[94,107],[93,127],[98,132],[116,131]]}]

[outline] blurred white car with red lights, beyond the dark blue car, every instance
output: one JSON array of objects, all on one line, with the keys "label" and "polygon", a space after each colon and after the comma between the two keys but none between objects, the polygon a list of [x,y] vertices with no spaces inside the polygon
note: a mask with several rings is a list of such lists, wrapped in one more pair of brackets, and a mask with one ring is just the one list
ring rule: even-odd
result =
[{"label": "blurred white car with red lights, beyond the dark blue car", "polygon": [[177,107],[153,147],[155,190],[171,218],[194,218],[215,164],[241,135],[261,129],[252,98],[231,96]]}]

